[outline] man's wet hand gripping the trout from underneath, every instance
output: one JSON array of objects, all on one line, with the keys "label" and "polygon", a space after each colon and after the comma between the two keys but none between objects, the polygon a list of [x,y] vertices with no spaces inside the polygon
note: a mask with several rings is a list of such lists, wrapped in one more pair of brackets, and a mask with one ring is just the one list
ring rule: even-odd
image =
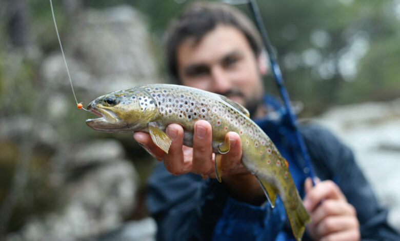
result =
[{"label": "man's wet hand gripping the trout from underneath", "polygon": [[[203,178],[215,178],[212,153],[212,128],[207,121],[197,121],[194,125],[193,148],[183,145],[184,131],[181,125],[171,124],[166,133],[172,144],[168,154],[158,148],[148,133],[135,132],[133,137],[157,160],[164,160],[165,168],[174,175],[193,172]],[[241,163],[242,142],[235,132],[227,133],[230,139],[230,151],[221,156],[222,179],[228,192],[237,200],[250,204],[261,204],[264,192],[257,179]]]}]

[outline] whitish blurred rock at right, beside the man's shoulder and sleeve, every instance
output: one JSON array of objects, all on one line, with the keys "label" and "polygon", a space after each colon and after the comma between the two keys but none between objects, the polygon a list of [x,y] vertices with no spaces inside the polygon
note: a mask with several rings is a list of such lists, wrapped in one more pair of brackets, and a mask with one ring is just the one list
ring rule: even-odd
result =
[{"label": "whitish blurred rock at right, beside the man's shoulder and sleeve", "polygon": [[354,152],[389,223],[400,231],[400,99],[336,107],[317,123],[327,127]]}]

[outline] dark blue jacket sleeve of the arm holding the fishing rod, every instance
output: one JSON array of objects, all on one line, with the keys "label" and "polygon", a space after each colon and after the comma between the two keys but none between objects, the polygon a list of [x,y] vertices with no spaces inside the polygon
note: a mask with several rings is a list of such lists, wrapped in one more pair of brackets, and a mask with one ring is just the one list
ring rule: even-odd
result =
[{"label": "dark blue jacket sleeve of the arm holding the fishing rod", "polygon": [[333,180],[357,211],[362,240],[400,240],[387,223],[387,210],[379,206],[351,150],[330,132],[316,126],[301,129],[316,175]]}]

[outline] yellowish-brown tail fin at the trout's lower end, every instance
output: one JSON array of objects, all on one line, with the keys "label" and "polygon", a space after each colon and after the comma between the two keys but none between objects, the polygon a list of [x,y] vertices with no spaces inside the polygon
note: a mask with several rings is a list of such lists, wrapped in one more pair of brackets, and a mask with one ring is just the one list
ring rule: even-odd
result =
[{"label": "yellowish-brown tail fin at the trout's lower end", "polygon": [[303,206],[301,200],[297,203],[297,207],[293,210],[288,212],[287,202],[284,202],[284,206],[286,209],[286,214],[289,218],[289,223],[292,228],[292,232],[296,240],[302,240],[302,236],[304,230],[306,229],[306,224],[311,221],[310,215],[308,214],[306,208]]}]

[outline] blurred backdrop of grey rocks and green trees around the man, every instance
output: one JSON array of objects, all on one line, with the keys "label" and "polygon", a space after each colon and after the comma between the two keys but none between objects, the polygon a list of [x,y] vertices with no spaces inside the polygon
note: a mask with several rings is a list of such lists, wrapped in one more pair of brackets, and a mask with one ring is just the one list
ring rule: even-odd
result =
[{"label": "blurred backdrop of grey rocks and green trees around the man", "polygon": [[[168,83],[163,35],[188,2],[54,0],[78,102]],[[299,117],[354,150],[400,230],[400,1],[258,4]],[[277,93],[271,75],[265,88]],[[0,239],[154,240],[155,160],[131,134],[87,127],[92,117],[76,109],[49,2],[2,0]]]}]

